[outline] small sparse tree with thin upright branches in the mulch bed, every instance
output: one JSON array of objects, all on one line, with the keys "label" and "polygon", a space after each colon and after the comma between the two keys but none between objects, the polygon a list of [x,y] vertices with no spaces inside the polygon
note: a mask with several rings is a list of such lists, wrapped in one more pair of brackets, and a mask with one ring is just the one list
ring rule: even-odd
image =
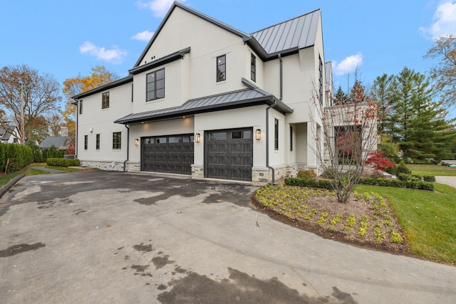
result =
[{"label": "small sparse tree with thin upright branches in the mulch bed", "polygon": [[[377,100],[375,95],[366,93],[358,80],[346,103],[325,107],[318,100],[318,94],[315,96],[318,119],[312,119],[323,124],[321,134],[314,130],[316,156],[333,180],[337,200],[346,203],[363,174],[370,153],[377,149]],[[318,144],[321,138],[323,145]]]}]

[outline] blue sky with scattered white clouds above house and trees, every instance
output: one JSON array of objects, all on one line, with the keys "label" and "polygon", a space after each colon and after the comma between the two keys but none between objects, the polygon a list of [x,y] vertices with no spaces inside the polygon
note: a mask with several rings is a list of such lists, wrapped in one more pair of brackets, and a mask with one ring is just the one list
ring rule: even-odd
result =
[{"label": "blue sky with scattered white clouds above house and trees", "polygon": [[[346,90],[358,68],[366,85],[405,66],[427,73],[435,38],[456,34],[456,0],[181,0],[252,33],[321,9],[325,60]],[[133,68],[172,0],[0,0],[0,67],[27,64],[59,83],[105,65],[121,77]],[[353,80],[353,76],[351,77]],[[452,111],[451,116],[456,116]]]}]

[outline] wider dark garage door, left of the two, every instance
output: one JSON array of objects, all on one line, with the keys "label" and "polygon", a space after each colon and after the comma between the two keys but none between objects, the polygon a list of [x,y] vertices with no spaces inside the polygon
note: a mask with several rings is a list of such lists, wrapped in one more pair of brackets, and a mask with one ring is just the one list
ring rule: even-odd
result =
[{"label": "wider dark garage door, left of the two", "polygon": [[141,170],[192,174],[193,134],[142,137]]}]

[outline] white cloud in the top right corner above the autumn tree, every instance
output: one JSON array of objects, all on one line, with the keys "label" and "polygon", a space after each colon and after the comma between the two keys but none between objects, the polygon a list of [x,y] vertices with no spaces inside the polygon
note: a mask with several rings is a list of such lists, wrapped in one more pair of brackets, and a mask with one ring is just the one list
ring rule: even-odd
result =
[{"label": "white cloud in the top right corner above the autumn tree", "polygon": [[432,18],[434,23],[429,28],[420,28],[423,33],[437,39],[450,33],[456,33],[456,1],[446,1],[437,6]]}]

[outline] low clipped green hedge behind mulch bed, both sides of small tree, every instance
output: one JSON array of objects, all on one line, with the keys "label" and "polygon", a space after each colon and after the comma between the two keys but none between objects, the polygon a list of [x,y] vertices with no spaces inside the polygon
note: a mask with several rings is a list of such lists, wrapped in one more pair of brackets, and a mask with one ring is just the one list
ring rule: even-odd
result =
[{"label": "low clipped green hedge behind mulch bed, both sides of small tree", "polygon": [[[309,188],[334,189],[333,182],[328,179],[299,179],[297,177],[288,177],[285,179],[285,184]],[[401,181],[400,179],[375,179],[367,177],[360,179],[359,184],[434,191],[434,184],[424,181]]]}]

